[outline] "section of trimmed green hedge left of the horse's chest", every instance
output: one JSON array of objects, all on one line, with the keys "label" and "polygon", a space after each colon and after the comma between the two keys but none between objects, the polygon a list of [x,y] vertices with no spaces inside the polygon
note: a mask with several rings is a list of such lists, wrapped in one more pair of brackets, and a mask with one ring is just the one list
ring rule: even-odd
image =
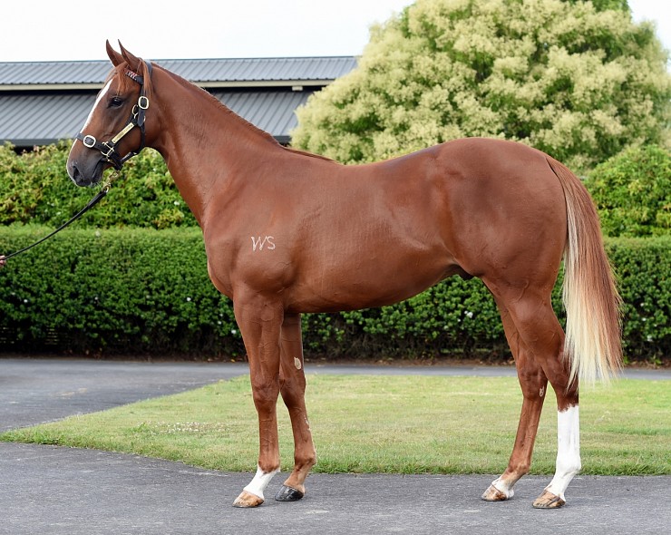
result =
[{"label": "section of trimmed green hedge left of the horse's chest", "polygon": [[[0,248],[15,250],[45,233],[1,228]],[[197,229],[66,230],[8,263],[0,273],[5,350],[240,351]]]}]

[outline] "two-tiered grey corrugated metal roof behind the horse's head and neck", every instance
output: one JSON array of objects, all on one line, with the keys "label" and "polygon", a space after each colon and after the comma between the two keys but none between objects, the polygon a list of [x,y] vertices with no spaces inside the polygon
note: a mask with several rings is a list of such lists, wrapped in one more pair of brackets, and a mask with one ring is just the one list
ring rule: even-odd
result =
[{"label": "two-tiered grey corrugated metal roof behind the horse's head and neck", "polygon": [[[354,57],[156,61],[207,89],[233,112],[287,143],[295,111],[356,66]],[[0,144],[73,139],[110,72],[108,61],[0,62]]]}]

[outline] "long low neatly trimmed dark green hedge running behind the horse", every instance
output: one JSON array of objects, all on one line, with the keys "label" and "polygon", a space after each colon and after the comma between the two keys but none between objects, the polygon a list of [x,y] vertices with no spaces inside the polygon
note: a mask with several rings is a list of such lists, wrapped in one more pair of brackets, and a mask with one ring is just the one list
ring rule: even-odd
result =
[{"label": "long low neatly trimmed dark green hedge running behind the horse", "polygon": [[[0,251],[44,236],[0,227]],[[628,358],[671,357],[671,238],[610,238],[625,300]],[[561,310],[559,288],[554,304]],[[501,320],[478,279],[452,277],[396,306],[306,315],[309,356],[508,359]],[[2,351],[242,355],[232,306],[209,282],[199,229],[68,229],[0,270]]]}]

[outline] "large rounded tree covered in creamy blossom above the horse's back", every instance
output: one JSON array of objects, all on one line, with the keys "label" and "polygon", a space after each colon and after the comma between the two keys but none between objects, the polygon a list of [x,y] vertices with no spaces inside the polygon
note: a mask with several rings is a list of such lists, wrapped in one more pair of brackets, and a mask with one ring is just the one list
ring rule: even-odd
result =
[{"label": "large rounded tree covered in creamy blossom above the horse's back", "polygon": [[355,163],[500,137],[584,172],[668,142],[670,97],[666,51],[626,1],[417,0],[298,111],[293,143]]}]

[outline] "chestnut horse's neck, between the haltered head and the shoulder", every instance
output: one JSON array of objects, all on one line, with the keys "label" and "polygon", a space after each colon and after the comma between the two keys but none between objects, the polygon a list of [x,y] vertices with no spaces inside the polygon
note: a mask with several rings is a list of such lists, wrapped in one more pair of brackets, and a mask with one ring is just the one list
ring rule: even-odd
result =
[{"label": "chestnut horse's neck, between the haltered head and the shoulder", "polygon": [[[181,196],[201,227],[213,195],[248,183],[254,168],[272,165],[283,148],[208,92],[167,71],[170,83],[154,89],[158,100],[160,133],[151,143],[163,156]],[[157,85],[154,85],[156,88]],[[170,94],[170,99],[165,95]],[[259,155],[263,154],[263,159]]]}]

